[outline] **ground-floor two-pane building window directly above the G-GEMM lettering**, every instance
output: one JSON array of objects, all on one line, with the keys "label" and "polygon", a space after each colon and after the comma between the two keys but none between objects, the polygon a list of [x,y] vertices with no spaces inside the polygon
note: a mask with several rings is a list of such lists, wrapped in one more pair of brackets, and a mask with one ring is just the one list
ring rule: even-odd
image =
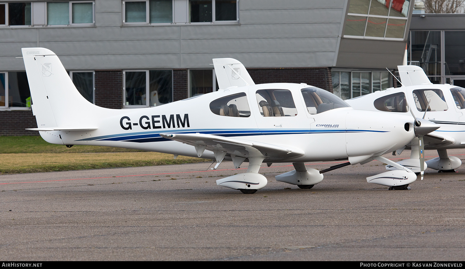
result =
[{"label": "ground-floor two-pane building window directly above the G-GEMM lettering", "polygon": [[173,102],[173,70],[124,71],[123,85],[123,107],[147,107]]}]

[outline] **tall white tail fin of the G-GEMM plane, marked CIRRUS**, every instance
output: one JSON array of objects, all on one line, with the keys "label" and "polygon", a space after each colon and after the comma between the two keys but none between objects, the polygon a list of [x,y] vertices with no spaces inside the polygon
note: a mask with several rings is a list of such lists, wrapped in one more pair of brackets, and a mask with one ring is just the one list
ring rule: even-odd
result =
[{"label": "tall white tail fin of the G-GEMM plane, marked CIRRUS", "polygon": [[39,130],[89,129],[89,119],[107,110],[82,97],[54,52],[22,48],[22,54]]}]

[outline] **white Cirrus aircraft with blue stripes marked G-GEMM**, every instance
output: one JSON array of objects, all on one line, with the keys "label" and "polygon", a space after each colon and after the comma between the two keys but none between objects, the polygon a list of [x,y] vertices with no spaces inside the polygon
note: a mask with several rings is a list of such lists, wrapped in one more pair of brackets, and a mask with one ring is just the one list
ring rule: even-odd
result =
[{"label": "white Cirrus aircraft with blue stripes marked G-GEMM", "polygon": [[[150,108],[115,110],[91,104],[76,90],[60,59],[45,48],[23,48],[40,136],[49,143],[101,145],[157,151],[216,160],[248,161],[246,173],[217,184],[254,193],[265,187],[262,162],[292,162],[295,170],[276,180],[311,188],[326,171],[373,159],[399,168],[370,183],[405,189],[417,176],[382,157],[416,136],[438,128],[410,115],[354,110],[325,90],[303,84],[254,85],[233,59],[214,59],[217,92]],[[241,74],[242,72],[242,74]],[[326,170],[307,169],[305,162],[348,160]]]}]

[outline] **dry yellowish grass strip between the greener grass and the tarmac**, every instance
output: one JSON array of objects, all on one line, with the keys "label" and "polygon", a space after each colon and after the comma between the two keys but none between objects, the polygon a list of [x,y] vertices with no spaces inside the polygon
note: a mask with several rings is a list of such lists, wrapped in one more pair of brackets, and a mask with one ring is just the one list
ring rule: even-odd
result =
[{"label": "dry yellowish grass strip between the greener grass and the tarmac", "polygon": [[152,166],[210,162],[207,159],[158,152],[105,153],[7,153],[0,155],[0,172],[36,173],[100,169],[110,167]]}]

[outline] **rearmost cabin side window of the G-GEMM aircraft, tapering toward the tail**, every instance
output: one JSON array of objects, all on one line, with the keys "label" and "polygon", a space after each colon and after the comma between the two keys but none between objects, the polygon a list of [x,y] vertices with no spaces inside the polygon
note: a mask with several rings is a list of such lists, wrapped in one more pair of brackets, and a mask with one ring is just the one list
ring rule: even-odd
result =
[{"label": "rearmost cabin side window of the G-GEMM aircraft, tapering toward the tail", "polygon": [[249,117],[250,108],[245,92],[216,99],[210,103],[210,110],[220,116]]}]

